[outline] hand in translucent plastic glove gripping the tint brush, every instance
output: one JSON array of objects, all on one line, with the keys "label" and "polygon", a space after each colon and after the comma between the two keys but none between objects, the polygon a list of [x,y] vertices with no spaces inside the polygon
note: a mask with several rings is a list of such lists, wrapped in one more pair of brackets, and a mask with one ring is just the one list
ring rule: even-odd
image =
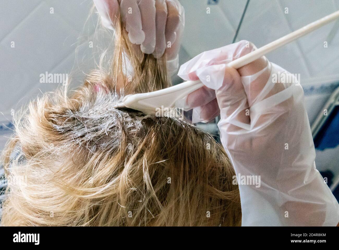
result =
[{"label": "hand in translucent plastic glove gripping the tint brush", "polygon": [[[237,174],[243,226],[336,226],[338,202],[315,167],[296,77],[265,57],[238,70],[226,66],[255,49],[240,41],[183,64],[178,75],[205,86],[176,106],[193,108],[194,123],[220,113],[221,142]],[[289,81],[279,83],[286,76]]]}]

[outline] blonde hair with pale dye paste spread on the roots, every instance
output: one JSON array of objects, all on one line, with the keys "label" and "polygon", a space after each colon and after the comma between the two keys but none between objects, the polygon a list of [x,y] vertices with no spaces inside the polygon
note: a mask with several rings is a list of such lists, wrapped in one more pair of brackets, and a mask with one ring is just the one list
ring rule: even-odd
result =
[{"label": "blonde hair with pale dye paste spread on the roots", "polygon": [[2,155],[2,225],[240,226],[234,169],[211,135],[176,118],[113,108],[126,93],[169,85],[165,58],[137,55],[121,24],[115,48],[110,72],[93,71],[71,94],[45,93],[16,115]]}]

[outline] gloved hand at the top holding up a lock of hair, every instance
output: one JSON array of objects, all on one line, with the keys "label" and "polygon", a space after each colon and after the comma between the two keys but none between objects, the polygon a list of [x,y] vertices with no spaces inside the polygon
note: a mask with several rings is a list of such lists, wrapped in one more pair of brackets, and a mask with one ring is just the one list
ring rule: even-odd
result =
[{"label": "gloved hand at the top holding up a lock of hair", "polygon": [[184,8],[178,0],[93,0],[103,25],[115,30],[119,8],[131,43],[145,54],[166,53],[167,71],[179,67],[178,52],[184,29]]}]

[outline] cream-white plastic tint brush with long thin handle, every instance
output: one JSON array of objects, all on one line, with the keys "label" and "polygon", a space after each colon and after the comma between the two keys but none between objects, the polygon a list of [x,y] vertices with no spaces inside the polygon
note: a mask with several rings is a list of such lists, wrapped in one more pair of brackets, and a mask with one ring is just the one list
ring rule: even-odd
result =
[{"label": "cream-white plastic tint brush with long thin handle", "polygon": [[[339,11],[336,11],[228,63],[227,66],[238,69],[257,60],[261,56],[320,28],[321,26],[337,19],[338,17]],[[157,108],[175,108],[176,101],[182,99],[202,86],[203,84],[199,80],[187,81],[154,92],[126,95],[122,103],[116,105],[116,108],[131,108],[144,113],[156,113]]]}]

